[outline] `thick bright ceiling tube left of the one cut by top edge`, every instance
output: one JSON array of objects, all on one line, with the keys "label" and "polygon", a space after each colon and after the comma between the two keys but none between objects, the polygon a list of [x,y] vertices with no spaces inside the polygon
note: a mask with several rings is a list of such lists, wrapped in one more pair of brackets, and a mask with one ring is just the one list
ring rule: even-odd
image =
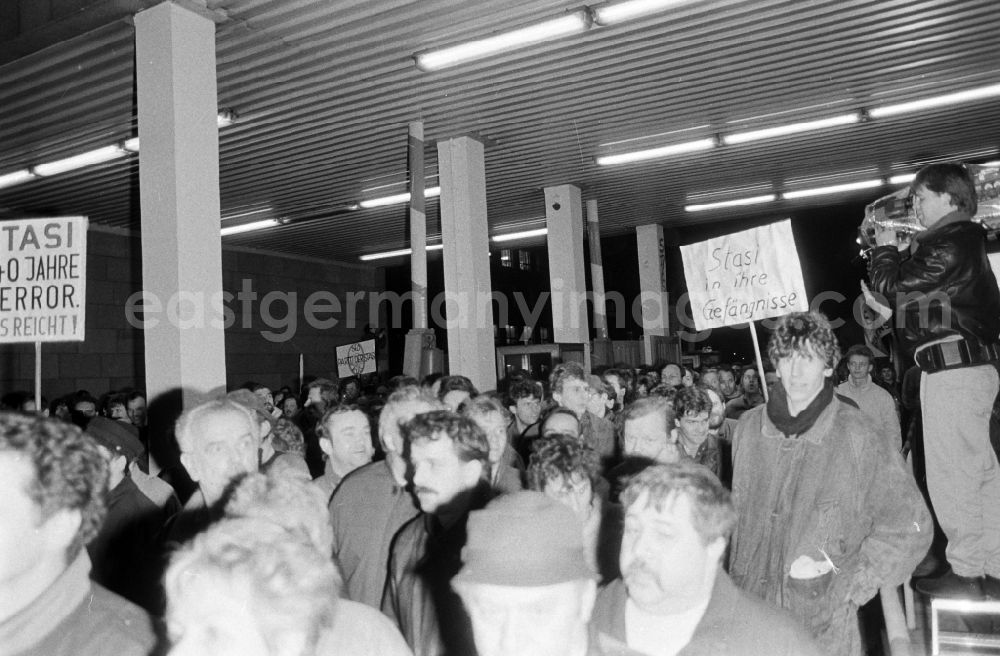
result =
[{"label": "thick bright ceiling tube left of the one cut by top edge", "polygon": [[506,50],[557,39],[562,36],[583,32],[590,27],[586,11],[575,11],[566,16],[502,32],[495,36],[460,43],[439,50],[428,50],[415,55],[417,67],[424,71],[436,71],[462,62],[480,59]]}]

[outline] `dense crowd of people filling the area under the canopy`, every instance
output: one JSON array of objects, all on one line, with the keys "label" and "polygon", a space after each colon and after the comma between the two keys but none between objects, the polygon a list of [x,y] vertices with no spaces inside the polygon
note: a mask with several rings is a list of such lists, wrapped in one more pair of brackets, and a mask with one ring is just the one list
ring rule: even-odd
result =
[{"label": "dense crowd of people filling the area under the canopy", "polygon": [[[759,367],[248,382],[174,451],[139,392],[9,394],[0,655],[862,654],[938,503],[877,364],[794,313]],[[996,598],[944,507],[932,593]]]}]

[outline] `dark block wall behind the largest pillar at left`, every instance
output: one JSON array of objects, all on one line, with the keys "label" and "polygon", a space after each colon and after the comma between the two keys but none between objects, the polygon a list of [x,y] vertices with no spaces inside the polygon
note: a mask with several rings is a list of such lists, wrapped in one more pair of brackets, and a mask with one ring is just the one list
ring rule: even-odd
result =
[{"label": "dark block wall behind the largest pillar at left", "polygon": [[[129,325],[125,312],[129,296],[141,289],[139,238],[92,226],[87,239],[86,340],[42,344],[42,394],[49,400],[78,389],[100,396],[145,387],[142,331]],[[368,294],[384,285],[382,269],[228,247],[222,269],[223,289],[234,295],[227,303],[235,318],[226,329],[229,387],[248,380],[275,388],[293,385],[300,353],[307,376],[335,372],[334,347],[363,339]],[[256,293],[256,300],[236,297],[245,289]],[[319,327],[306,320],[306,302],[317,292],[332,292],[341,303],[340,314],[314,313],[338,319],[337,325]],[[354,326],[345,320],[349,293],[360,296]],[[244,309],[249,310],[247,322]],[[34,367],[33,344],[0,344],[0,393],[32,391]]]}]

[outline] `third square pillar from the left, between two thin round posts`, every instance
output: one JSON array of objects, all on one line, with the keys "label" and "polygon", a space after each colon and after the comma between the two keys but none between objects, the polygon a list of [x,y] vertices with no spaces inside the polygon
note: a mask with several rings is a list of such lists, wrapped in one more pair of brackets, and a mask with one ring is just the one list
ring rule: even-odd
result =
[{"label": "third square pillar from the left, between two thin round posts", "polygon": [[[583,201],[580,188],[545,188],[552,333],[557,344],[590,342],[587,282],[583,259]],[[589,366],[589,363],[588,363]]]}]

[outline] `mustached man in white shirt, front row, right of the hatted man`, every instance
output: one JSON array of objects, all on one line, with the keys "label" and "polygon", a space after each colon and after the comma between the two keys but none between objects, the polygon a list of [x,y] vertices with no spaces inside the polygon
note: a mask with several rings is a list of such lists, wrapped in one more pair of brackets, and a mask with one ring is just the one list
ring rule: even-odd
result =
[{"label": "mustached man in white shirt, front row, right of the hatted man", "polygon": [[722,557],[736,521],[729,493],[689,461],[650,467],[622,494],[622,578],[593,624],[645,654],[818,656],[803,628],[733,585]]}]

